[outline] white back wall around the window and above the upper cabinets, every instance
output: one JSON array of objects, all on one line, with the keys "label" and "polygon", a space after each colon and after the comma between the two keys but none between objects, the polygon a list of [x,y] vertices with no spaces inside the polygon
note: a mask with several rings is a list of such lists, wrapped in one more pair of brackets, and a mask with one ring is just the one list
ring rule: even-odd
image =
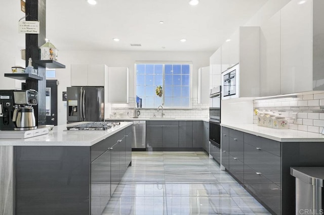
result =
[{"label": "white back wall around the window and above the upper cabinets", "polygon": [[71,83],[71,64],[105,64],[108,67],[128,67],[130,97],[135,96],[135,61],[192,61],[192,97],[197,98],[198,69],[209,66],[212,52],[168,51],[60,51],[58,61],[66,66],[56,70],[58,85],[58,125],[66,123],[66,106],[62,91]]}]

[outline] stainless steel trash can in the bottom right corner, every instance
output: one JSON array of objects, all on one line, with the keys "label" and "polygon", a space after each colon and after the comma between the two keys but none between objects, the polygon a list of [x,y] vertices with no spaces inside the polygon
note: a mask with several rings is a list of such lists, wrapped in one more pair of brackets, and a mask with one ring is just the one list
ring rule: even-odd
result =
[{"label": "stainless steel trash can in the bottom right corner", "polygon": [[296,214],[324,214],[324,167],[291,167],[290,174],[296,178]]}]

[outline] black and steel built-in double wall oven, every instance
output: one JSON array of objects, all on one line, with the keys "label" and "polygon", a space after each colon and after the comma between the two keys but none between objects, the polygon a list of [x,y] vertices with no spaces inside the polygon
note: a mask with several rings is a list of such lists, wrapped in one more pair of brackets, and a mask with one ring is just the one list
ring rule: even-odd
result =
[{"label": "black and steel built-in double wall oven", "polygon": [[209,140],[220,149],[221,147],[221,86],[210,91],[209,106]]}]

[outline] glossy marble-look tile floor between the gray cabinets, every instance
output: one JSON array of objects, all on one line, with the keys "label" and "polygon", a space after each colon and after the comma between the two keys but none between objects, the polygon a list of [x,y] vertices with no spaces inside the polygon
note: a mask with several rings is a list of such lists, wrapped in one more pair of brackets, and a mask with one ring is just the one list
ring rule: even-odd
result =
[{"label": "glossy marble-look tile floor between the gray cabinets", "polygon": [[133,151],[102,214],[270,213],[203,151]]}]

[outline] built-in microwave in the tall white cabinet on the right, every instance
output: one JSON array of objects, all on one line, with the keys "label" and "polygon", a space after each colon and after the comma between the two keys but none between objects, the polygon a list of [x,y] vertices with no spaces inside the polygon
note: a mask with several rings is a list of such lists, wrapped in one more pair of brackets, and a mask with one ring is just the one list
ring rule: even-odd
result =
[{"label": "built-in microwave in the tall white cabinet on the right", "polygon": [[222,99],[239,97],[239,64],[222,73]]}]

